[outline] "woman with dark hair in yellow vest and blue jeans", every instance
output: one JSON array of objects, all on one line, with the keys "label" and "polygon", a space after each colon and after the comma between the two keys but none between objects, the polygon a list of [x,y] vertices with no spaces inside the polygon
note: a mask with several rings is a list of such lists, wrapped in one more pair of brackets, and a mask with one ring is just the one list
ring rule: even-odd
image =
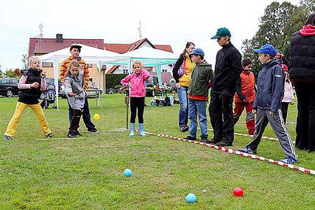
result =
[{"label": "woman with dark hair in yellow vest and blue jeans", "polygon": [[[192,42],[186,43],[186,48],[183,53],[177,59],[173,68],[173,78],[176,80],[176,91],[179,96],[179,103],[181,108],[179,109],[179,130],[181,132],[186,132],[189,130],[187,125],[188,122],[188,99],[187,91],[190,83],[190,76],[193,72],[195,64],[191,60],[190,52],[195,49],[195,44]],[[179,69],[183,69],[183,74],[179,75]],[[181,73],[180,73],[181,74]]]}]

